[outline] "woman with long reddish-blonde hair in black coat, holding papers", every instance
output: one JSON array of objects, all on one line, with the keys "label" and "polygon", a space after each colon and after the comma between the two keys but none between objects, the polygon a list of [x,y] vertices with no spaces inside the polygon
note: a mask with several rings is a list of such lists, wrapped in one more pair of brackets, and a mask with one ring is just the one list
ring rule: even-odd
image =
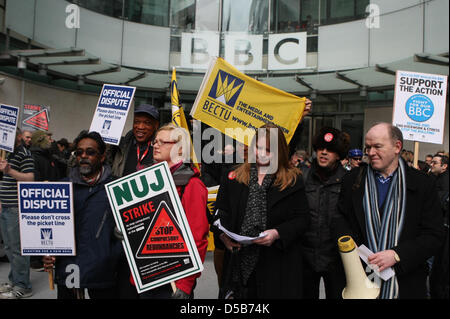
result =
[{"label": "woman with long reddish-blonde hair in black coat, holding papers", "polygon": [[221,184],[216,208],[221,225],[248,237],[239,243],[222,233],[227,253],[225,298],[301,298],[301,235],[308,228],[308,202],[301,172],[289,165],[282,130],[257,130],[245,163]]}]

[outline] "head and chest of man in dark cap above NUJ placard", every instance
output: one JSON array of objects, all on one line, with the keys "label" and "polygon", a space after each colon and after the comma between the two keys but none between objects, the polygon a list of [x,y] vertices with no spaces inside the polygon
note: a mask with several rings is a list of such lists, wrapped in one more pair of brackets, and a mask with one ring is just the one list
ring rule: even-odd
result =
[{"label": "head and chest of man in dark cap above NUJ placard", "polygon": [[112,170],[122,177],[153,163],[151,141],[159,127],[158,109],[150,104],[140,104],[134,109],[133,129],[112,150]]}]

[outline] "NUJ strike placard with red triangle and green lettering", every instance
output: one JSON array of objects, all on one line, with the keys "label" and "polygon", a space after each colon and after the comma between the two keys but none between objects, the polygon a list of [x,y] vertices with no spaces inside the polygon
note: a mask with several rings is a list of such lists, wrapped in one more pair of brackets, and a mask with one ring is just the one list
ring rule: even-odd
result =
[{"label": "NUJ strike placard with red triangle and green lettering", "polygon": [[106,185],[139,293],[203,270],[166,162]]}]

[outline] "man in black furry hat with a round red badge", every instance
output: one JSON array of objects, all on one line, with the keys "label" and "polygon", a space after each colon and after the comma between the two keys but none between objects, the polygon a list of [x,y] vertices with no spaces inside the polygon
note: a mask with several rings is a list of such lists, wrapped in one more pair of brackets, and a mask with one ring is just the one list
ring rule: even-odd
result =
[{"label": "man in black furry hat with a round red badge", "polygon": [[308,299],[319,299],[323,278],[327,299],[340,298],[345,286],[344,270],[331,232],[342,177],[346,170],[340,160],[347,156],[349,136],[332,127],[323,127],[313,139],[317,153],[309,171],[304,172],[311,224],[304,235],[304,290]]}]

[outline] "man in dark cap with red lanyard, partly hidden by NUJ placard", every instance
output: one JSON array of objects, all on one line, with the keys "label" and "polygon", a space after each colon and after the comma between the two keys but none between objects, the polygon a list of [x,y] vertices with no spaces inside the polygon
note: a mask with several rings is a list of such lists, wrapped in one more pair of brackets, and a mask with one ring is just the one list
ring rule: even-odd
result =
[{"label": "man in dark cap with red lanyard, partly hidden by NUJ placard", "polygon": [[[133,129],[111,150],[112,173],[126,176],[153,164],[151,142],[159,127],[158,109],[150,104],[140,104],[134,109]],[[119,235],[120,237],[120,235]],[[119,298],[138,299],[136,288],[131,285],[130,270],[125,255],[119,261]]]}]

